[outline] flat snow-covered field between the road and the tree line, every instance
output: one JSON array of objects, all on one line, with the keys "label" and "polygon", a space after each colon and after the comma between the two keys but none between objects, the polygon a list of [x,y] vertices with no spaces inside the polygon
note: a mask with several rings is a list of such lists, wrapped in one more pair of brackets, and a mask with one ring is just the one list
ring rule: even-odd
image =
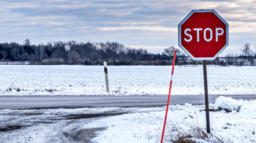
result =
[{"label": "flat snow-covered field between the road and the tree line", "polygon": [[[256,67],[207,67],[210,95],[255,95]],[[111,95],[167,95],[170,66],[109,66]],[[174,68],[172,95],[203,95],[202,66]],[[102,66],[0,65],[0,95],[106,95]]]}]

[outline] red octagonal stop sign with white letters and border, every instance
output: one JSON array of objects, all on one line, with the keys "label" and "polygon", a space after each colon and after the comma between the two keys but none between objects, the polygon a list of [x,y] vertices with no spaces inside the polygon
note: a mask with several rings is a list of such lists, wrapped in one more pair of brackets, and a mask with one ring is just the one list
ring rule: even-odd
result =
[{"label": "red octagonal stop sign with white letters and border", "polygon": [[214,10],[193,10],[179,24],[179,46],[194,60],[214,60],[229,45],[229,24]]}]

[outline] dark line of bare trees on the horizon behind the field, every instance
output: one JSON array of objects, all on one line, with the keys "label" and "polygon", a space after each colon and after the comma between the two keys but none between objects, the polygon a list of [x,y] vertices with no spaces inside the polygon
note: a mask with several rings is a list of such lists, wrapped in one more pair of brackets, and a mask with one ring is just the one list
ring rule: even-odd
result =
[{"label": "dark line of bare trees on the horizon behind the field", "polygon": [[[23,44],[16,42],[0,44],[0,60],[7,62],[29,62],[37,65],[170,65],[174,50],[177,50],[177,65],[197,65],[200,61],[190,60],[179,48],[165,48],[161,54],[150,53],[144,48],[130,48],[118,42],[48,42],[32,45],[29,39]],[[244,58],[251,60],[253,52],[245,44]],[[248,53],[249,52],[249,53]],[[217,59],[216,59],[217,60]],[[211,61],[210,64],[221,64]]]}]

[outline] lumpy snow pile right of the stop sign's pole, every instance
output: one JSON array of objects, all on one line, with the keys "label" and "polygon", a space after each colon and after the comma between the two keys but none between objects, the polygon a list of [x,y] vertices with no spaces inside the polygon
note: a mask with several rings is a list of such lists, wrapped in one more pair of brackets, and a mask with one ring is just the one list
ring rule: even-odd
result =
[{"label": "lumpy snow pile right of the stop sign's pole", "polygon": [[219,98],[217,98],[215,100],[214,108],[217,110],[225,110],[227,112],[231,112],[233,110],[239,112],[241,109],[241,106],[243,106],[243,104],[245,104],[245,102],[247,102],[247,101],[243,101],[241,99],[236,100],[236,99],[232,99],[230,97],[220,96]]}]

